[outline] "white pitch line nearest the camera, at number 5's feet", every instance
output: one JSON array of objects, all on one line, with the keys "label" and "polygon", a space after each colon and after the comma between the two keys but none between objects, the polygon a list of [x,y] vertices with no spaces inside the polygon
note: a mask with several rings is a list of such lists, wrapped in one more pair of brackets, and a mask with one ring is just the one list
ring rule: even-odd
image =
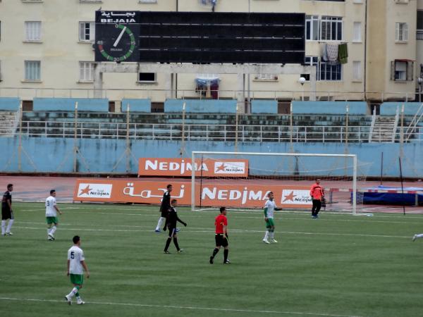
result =
[{"label": "white pitch line nearest the camera, at number 5's feet", "polygon": [[[3,301],[17,301],[17,302],[49,302],[49,303],[63,303],[65,301],[56,299],[23,299],[13,297],[0,297]],[[131,307],[151,307],[161,309],[190,309],[198,311],[221,311],[221,312],[236,312],[236,313],[272,313],[278,315],[299,315],[299,316],[327,316],[327,317],[360,317],[351,315],[334,315],[331,313],[306,313],[301,311],[260,311],[252,309],[223,309],[215,307],[195,307],[195,306],[172,306],[172,305],[153,305],[153,304],[132,304],[132,303],[114,303],[114,302],[85,302],[85,304],[103,305],[103,306],[131,306]]]}]

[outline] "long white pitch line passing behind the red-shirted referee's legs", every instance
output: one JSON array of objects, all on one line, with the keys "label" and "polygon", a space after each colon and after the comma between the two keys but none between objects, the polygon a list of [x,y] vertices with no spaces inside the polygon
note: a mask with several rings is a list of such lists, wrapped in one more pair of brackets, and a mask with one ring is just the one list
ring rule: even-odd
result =
[{"label": "long white pitch line passing behind the red-shirted referee's legs", "polygon": [[[45,228],[41,227],[21,227],[19,225],[13,226],[13,228],[27,229],[27,230],[44,230]],[[93,231],[93,232],[154,232],[154,230],[130,230],[130,229],[81,229],[81,228],[59,228],[59,230],[66,231]],[[186,233],[214,233],[214,230],[190,230],[188,228],[183,229],[184,234]],[[233,233],[263,233],[264,230],[231,230]],[[355,233],[333,233],[333,232],[296,232],[296,231],[278,231],[278,233],[285,233],[287,235],[334,235],[334,236],[344,236],[344,237],[383,237],[383,238],[401,238],[401,239],[410,239],[411,236],[401,236],[401,235],[364,235],[364,234],[355,234]]]}]

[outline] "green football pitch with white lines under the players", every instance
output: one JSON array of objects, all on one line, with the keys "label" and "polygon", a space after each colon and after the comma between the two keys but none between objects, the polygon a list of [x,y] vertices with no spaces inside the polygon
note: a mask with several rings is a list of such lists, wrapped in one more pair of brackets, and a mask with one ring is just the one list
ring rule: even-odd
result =
[{"label": "green football pitch with white lines under the players", "polygon": [[[231,264],[214,249],[217,211],[179,208],[184,249],[164,254],[157,206],[59,204],[47,241],[44,204],[13,203],[13,237],[0,240],[1,316],[422,316],[423,216],[276,213],[264,244],[260,211],[228,211]],[[68,306],[71,238],[91,271]]]}]

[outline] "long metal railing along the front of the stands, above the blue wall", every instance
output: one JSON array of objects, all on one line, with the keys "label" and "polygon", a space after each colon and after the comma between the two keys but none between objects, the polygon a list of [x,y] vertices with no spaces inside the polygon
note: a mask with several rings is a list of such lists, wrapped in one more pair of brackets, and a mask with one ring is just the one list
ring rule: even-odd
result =
[{"label": "long metal railing along the front of the stands, above the blue wall", "polygon": [[[85,123],[23,121],[22,135],[28,137],[78,137],[102,139],[169,139],[223,142],[386,142],[381,130],[366,126],[305,126],[305,125],[200,125],[148,123]],[[1,130],[1,124],[0,124]],[[238,131],[238,133],[237,133]],[[10,134],[18,135],[19,130]],[[410,141],[423,141],[423,127],[409,132]],[[407,139],[407,135],[403,136]],[[400,139],[400,128],[396,132]]]}]

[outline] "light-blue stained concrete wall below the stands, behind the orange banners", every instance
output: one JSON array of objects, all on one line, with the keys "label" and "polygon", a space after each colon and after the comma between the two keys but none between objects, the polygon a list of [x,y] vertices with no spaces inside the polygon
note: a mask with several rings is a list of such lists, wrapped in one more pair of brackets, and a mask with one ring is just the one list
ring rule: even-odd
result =
[{"label": "light-blue stained concrete wall below the stands, behind the orange banners", "polygon": [[[31,159],[30,161],[22,151],[22,172],[71,173],[73,171],[73,139],[23,137],[22,144]],[[80,155],[78,156],[79,172],[125,173],[125,156],[123,156],[125,139],[78,139],[78,147],[80,148]],[[0,156],[0,171],[18,172],[18,138],[0,138],[0,148],[3,149],[3,154]],[[131,151],[133,158],[180,157],[180,142],[166,140],[132,141]],[[184,157],[190,157],[191,151],[234,151],[234,144],[233,142],[185,142]],[[289,143],[249,142],[238,144],[238,151],[290,153],[291,149]],[[293,144],[293,151],[296,153],[344,154],[345,144],[295,143]],[[399,144],[350,144],[348,152],[357,154],[360,162],[367,162],[367,164],[359,167],[359,173],[379,176],[381,170],[380,158],[383,152],[384,176],[398,177],[400,175],[398,167]],[[121,159],[122,156],[123,159]],[[404,156],[403,175],[405,177],[423,178],[423,144],[405,144]],[[130,173],[137,173],[137,161],[133,158],[130,162]],[[121,159],[121,162],[113,170],[119,159]],[[255,156],[250,159],[250,168],[269,170],[274,166],[276,170],[294,169],[292,161],[275,162],[274,157],[269,157],[269,161],[266,161],[263,157]],[[312,164],[314,168],[318,166],[318,170],[331,170],[331,175],[336,175],[336,173],[342,175],[343,173],[343,165],[331,166],[333,161],[329,159],[314,160]],[[307,167],[301,165],[302,163],[300,163],[299,170],[307,170]],[[339,171],[337,172],[337,170]],[[293,173],[295,173],[294,170]]]}]

